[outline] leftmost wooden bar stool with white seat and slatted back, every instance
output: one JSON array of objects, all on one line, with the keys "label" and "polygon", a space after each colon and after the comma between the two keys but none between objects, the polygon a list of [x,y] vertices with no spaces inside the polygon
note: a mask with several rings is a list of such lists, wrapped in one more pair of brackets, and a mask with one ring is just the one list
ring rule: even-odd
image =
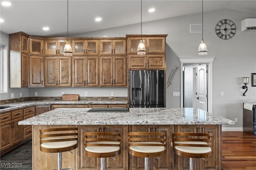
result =
[{"label": "leftmost wooden bar stool with white seat and slatted back", "polygon": [[52,128],[40,129],[40,150],[42,152],[57,153],[57,170],[62,169],[62,152],[70,151],[78,147],[78,128]]}]

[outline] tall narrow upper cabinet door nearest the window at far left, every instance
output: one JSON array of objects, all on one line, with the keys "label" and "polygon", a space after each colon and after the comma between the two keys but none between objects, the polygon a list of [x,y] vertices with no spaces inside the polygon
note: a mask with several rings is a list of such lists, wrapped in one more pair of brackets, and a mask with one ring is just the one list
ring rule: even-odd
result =
[{"label": "tall narrow upper cabinet door nearest the window at far left", "polygon": [[28,55],[21,54],[21,80],[22,87],[28,87]]}]

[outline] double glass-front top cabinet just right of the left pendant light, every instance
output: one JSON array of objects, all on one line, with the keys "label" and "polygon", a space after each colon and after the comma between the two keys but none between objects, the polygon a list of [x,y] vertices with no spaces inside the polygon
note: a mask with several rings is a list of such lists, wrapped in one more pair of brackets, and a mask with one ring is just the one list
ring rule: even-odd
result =
[{"label": "double glass-front top cabinet just right of the left pendant light", "polygon": [[74,55],[98,55],[99,41],[98,40],[73,40]]}]

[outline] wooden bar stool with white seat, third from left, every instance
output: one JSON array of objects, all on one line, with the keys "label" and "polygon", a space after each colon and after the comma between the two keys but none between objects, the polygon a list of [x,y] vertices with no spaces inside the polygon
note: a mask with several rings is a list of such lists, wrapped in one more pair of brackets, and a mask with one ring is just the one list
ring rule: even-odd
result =
[{"label": "wooden bar stool with white seat, third from left", "polygon": [[162,132],[128,133],[129,153],[143,157],[144,169],[149,170],[149,157],[162,156],[166,150],[166,134]]}]

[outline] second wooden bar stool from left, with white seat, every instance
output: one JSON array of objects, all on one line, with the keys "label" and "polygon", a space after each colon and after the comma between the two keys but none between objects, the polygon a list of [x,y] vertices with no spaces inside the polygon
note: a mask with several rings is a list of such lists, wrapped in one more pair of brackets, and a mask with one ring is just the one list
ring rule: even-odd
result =
[{"label": "second wooden bar stool from left, with white seat", "polygon": [[106,170],[106,158],[121,153],[121,137],[114,132],[86,132],[84,147],[87,156],[100,158],[100,170]]}]

